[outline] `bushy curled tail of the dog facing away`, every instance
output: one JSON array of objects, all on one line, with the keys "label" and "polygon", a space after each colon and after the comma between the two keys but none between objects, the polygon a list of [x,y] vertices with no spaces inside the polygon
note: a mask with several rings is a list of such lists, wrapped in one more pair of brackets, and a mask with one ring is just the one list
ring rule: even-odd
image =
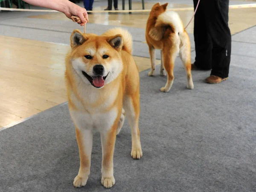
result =
[{"label": "bushy curled tail of the dog facing away", "polygon": [[154,40],[160,41],[170,33],[179,35],[183,32],[184,26],[177,12],[164,12],[157,17],[156,23],[148,35]]}]

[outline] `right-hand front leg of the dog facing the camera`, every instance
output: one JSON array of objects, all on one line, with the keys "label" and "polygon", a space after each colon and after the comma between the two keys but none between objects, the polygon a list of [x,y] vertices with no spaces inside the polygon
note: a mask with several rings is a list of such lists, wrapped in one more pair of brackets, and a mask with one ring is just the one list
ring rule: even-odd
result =
[{"label": "right-hand front leg of the dog facing the camera", "polygon": [[106,188],[111,188],[115,183],[113,175],[113,155],[116,143],[116,128],[118,121],[109,131],[101,132],[102,143],[102,180],[101,183]]}]

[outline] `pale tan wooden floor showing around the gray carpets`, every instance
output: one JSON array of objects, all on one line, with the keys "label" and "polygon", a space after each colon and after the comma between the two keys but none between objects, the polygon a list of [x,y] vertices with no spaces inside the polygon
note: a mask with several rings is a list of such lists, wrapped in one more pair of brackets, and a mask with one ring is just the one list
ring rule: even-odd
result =
[{"label": "pale tan wooden floor showing around the gray carpets", "polygon": [[[145,9],[151,9],[151,6],[152,3],[145,3]],[[181,7],[191,6],[168,6]],[[102,9],[105,7],[94,8]],[[141,9],[141,3],[133,3],[133,9]],[[184,25],[193,14],[192,11],[178,13]],[[230,9],[229,15],[232,34],[256,25],[256,9]],[[68,20],[62,13],[30,17]],[[139,28],[145,28],[147,18],[148,13],[89,15],[90,23]],[[189,33],[193,32],[193,22],[187,29]],[[64,87],[64,57],[68,49],[69,46],[66,45],[0,36],[0,129],[67,101]],[[150,67],[148,58],[134,58],[140,71]]]}]

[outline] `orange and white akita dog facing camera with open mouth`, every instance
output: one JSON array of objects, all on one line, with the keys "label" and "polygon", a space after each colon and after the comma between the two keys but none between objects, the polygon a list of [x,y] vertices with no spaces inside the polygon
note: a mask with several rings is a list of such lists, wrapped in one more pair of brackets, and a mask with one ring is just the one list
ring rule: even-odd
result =
[{"label": "orange and white akita dog facing camera with open mouth", "polygon": [[73,185],[86,185],[90,175],[93,131],[102,143],[102,179],[106,188],[115,184],[113,153],[116,135],[125,115],[131,126],[131,157],[143,156],[140,131],[140,78],[132,57],[131,34],[121,28],[102,35],[74,30],[66,57],[65,80],[70,116],[76,127],[80,168]]}]

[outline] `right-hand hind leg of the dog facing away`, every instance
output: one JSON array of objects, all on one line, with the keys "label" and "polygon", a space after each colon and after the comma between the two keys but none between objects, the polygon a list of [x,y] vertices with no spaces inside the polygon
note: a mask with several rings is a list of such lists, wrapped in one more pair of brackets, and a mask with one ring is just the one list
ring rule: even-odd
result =
[{"label": "right-hand hind leg of the dog facing away", "polygon": [[188,81],[187,88],[193,89],[194,84],[191,75],[191,48],[189,36],[186,32],[181,35],[180,59],[183,62],[184,68],[186,70],[186,77]]}]

